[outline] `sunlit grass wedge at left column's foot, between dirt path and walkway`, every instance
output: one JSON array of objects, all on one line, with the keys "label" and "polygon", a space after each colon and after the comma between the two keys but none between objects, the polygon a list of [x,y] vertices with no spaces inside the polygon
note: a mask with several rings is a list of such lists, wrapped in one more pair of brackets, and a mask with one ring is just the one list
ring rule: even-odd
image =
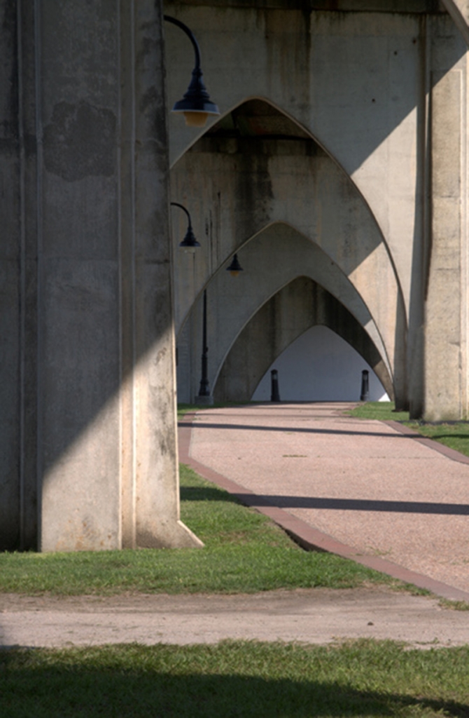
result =
[{"label": "sunlit grass wedge at left column's foot, between dirt path and walkway", "polygon": [[181,466],[181,519],[203,549],[0,554],[0,591],[56,595],[239,593],[351,588],[393,579],[332,554],[303,551],[282,529]]}]

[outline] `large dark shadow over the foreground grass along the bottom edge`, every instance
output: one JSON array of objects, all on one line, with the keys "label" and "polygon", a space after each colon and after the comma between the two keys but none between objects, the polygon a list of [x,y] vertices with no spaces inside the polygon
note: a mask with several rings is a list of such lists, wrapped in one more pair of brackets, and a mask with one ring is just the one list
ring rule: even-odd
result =
[{"label": "large dark shadow over the foreground grass along the bottom edge", "polygon": [[[24,653],[31,653],[27,651]],[[3,653],[3,655],[1,655]],[[138,716],[178,718],[412,716],[467,718],[469,704],[357,690],[335,682],[194,675],[143,668],[21,666],[18,652],[0,653],[0,705],[9,718]],[[176,670],[184,666],[176,666]],[[431,711],[431,712],[430,712]]]}]

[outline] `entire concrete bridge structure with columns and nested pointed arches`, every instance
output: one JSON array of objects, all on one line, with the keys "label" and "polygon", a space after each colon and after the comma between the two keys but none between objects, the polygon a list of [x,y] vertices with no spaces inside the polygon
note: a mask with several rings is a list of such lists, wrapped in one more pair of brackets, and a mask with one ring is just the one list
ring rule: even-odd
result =
[{"label": "entire concrete bridge structure with columns and nested pointed arches", "polygon": [[[205,289],[215,396],[319,323],[412,416],[468,415],[468,11],[0,0],[0,548],[200,545],[174,357],[192,399]],[[193,56],[164,13],[204,128],[169,115]]]}]

